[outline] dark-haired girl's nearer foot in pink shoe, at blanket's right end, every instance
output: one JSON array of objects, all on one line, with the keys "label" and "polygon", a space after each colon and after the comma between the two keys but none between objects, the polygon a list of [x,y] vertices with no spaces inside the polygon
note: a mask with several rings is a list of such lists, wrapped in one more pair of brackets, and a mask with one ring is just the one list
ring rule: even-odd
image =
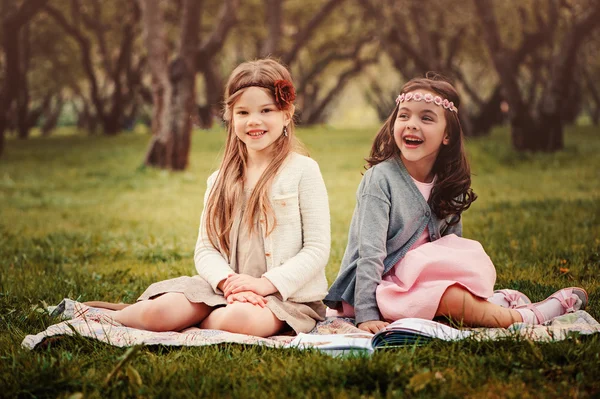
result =
[{"label": "dark-haired girl's nearer foot in pink shoe, at blanket's right end", "polygon": [[570,287],[556,291],[548,298],[534,304],[522,305],[515,310],[523,317],[527,324],[544,324],[548,320],[585,309],[588,295],[583,288]]}]

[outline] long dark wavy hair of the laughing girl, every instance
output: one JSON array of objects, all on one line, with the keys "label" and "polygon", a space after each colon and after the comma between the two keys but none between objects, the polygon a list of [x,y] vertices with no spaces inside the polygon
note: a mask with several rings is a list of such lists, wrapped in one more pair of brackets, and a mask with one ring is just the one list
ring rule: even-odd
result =
[{"label": "long dark wavy hair of the laughing girl", "polygon": [[[460,98],[458,92],[448,80],[437,74],[427,74],[425,78],[415,78],[408,81],[401,93],[409,93],[415,90],[430,91],[437,93],[440,97],[452,101],[457,109],[460,109]],[[398,115],[399,105],[385,121],[371,147],[366,169],[393,156],[400,155],[400,149],[394,140],[394,123]],[[460,111],[459,111],[460,112]],[[456,215],[451,224],[460,221],[463,211],[471,206],[477,199],[477,195],[471,189],[471,168],[467,160],[463,131],[456,112],[444,109],[446,116],[446,134],[449,137],[447,145],[442,145],[433,165],[433,174],[436,180],[429,197],[429,206],[438,218],[446,219],[448,216]]]}]

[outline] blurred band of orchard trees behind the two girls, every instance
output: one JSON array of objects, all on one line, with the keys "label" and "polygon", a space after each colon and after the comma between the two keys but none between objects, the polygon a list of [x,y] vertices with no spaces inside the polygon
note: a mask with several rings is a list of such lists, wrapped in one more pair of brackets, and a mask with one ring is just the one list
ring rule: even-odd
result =
[{"label": "blurred band of orchard trees behind the two girls", "polygon": [[305,126],[375,125],[402,84],[429,71],[459,88],[467,135],[508,124],[517,151],[561,150],[565,126],[600,119],[600,0],[0,0],[0,7],[0,154],[6,137],[48,136],[59,126],[90,135],[137,129],[152,135],[147,165],[186,169],[193,126],[222,123],[229,72],[265,56],[292,71]]}]

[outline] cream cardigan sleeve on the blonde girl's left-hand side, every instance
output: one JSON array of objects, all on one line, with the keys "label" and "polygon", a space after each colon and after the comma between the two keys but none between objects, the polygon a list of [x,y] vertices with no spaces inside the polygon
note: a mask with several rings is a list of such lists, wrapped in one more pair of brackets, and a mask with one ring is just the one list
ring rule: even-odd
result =
[{"label": "cream cardigan sleeve on the blonde girl's left-hand side", "polygon": [[204,209],[202,210],[202,216],[200,217],[198,241],[196,241],[196,249],[194,250],[194,263],[196,264],[198,275],[212,286],[215,293],[220,293],[217,285],[230,274],[233,274],[234,271],[229,267],[229,262],[224,258],[221,252],[212,246],[206,231],[206,202],[216,180],[217,173],[218,171],[208,178],[206,185]]}]

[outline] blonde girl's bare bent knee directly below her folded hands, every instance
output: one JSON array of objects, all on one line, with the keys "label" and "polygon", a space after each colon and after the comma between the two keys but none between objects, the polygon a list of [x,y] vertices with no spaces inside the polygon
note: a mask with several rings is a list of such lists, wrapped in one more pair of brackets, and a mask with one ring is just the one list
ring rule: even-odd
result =
[{"label": "blonde girl's bare bent knee directly below her folded hands", "polygon": [[247,302],[234,302],[215,309],[200,323],[200,328],[224,330],[257,337],[269,337],[283,329],[285,322],[279,320],[266,307]]}]

